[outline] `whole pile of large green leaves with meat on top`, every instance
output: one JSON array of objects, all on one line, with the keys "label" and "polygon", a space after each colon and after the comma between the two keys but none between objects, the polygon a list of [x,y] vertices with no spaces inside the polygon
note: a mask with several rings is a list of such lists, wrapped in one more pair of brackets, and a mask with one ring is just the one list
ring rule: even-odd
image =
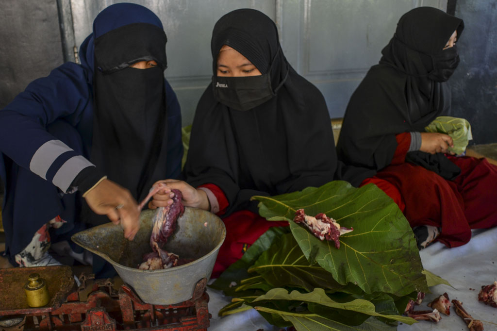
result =
[{"label": "whole pile of large green leaves with meat on top", "polygon": [[[211,287],[232,296],[225,316],[255,308],[269,323],[301,330],[396,330],[409,299],[446,283],[423,270],[406,218],[382,190],[332,181],[273,197],[259,213],[289,227],[264,233]],[[293,222],[297,209],[325,213],[354,231],[340,248]]]}]

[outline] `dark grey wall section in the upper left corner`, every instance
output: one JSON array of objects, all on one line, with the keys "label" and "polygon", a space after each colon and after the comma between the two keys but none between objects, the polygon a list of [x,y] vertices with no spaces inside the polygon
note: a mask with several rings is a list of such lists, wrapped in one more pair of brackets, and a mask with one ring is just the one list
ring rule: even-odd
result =
[{"label": "dark grey wall section in the upper left corner", "polygon": [[63,63],[56,0],[0,0],[0,109]]}]

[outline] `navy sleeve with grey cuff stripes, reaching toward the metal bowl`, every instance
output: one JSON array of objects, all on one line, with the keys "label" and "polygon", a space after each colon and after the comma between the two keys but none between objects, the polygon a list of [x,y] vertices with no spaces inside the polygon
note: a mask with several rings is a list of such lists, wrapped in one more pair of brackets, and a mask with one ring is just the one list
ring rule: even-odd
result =
[{"label": "navy sleeve with grey cuff stripes, reaching toward the metal bowl", "polygon": [[[83,68],[74,63],[33,81],[0,110],[0,152],[66,191],[77,169],[91,164],[46,127],[57,119],[78,116],[90,98]],[[52,164],[60,169],[52,168],[48,178]]]}]

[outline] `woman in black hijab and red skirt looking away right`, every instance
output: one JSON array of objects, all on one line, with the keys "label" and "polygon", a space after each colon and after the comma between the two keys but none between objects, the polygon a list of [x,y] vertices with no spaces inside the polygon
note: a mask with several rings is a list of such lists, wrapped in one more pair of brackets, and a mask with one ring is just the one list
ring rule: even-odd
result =
[{"label": "woman in black hijab and red skirt looking away right", "polygon": [[426,133],[450,109],[447,81],[459,63],[464,23],[431,7],[403,15],[380,64],[350,98],[337,144],[346,164],[378,171],[364,183],[384,189],[414,228],[418,246],[466,244],[471,229],[497,225],[497,168],[446,154],[448,135]]}]

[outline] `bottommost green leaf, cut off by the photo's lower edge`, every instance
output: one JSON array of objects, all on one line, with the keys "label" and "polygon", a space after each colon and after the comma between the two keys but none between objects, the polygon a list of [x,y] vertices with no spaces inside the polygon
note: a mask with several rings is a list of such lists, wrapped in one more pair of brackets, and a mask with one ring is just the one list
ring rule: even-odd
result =
[{"label": "bottommost green leaf, cut off by the photo's lower edge", "polygon": [[291,322],[297,331],[395,331],[396,326],[389,326],[371,317],[359,326],[349,326],[335,322],[317,314],[293,313],[270,309],[266,307],[255,307],[256,310],[266,313],[280,315],[285,321]]}]

